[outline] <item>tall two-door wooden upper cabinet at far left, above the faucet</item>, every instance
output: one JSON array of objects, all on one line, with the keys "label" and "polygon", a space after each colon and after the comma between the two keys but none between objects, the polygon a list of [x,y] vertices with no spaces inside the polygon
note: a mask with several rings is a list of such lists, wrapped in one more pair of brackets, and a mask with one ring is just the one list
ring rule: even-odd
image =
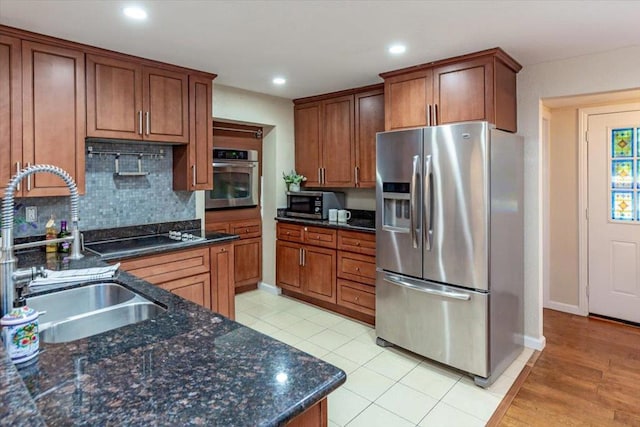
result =
[{"label": "tall two-door wooden upper cabinet at far left, above the faucet", "polygon": [[[84,54],[80,50],[0,34],[0,179],[25,167],[52,164],[84,193]],[[69,194],[59,177],[39,173],[17,197]]]}]

